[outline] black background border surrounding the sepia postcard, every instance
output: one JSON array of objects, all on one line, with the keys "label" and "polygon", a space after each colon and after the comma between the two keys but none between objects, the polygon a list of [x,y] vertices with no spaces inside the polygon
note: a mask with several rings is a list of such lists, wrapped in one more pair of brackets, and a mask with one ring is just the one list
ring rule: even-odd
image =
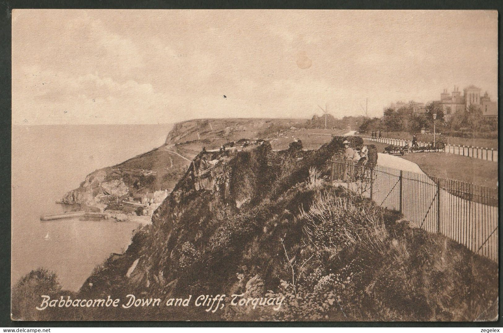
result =
[{"label": "black background border surrounding the sepia postcard", "polygon": [[[103,322],[16,322],[11,321],[11,12],[12,9],[443,9],[443,10],[500,10],[503,1],[432,1],[432,0],[346,0],[346,1],[302,1],[302,0],[254,0],[254,1],[195,1],[195,0],[121,0],[121,1],[2,1],[0,2],[0,327],[92,327],[92,326],[328,326],[328,327],[376,327],[376,326],[436,326],[436,327],[500,327],[503,318],[501,306],[496,322],[158,322],[158,321],[103,321]],[[498,13],[498,19],[499,13]],[[471,24],[467,22],[467,24]],[[501,36],[501,23],[498,21],[498,35]],[[501,39],[498,39],[498,52],[501,54]],[[498,102],[501,101],[498,67]],[[498,106],[500,103],[498,103]],[[498,112],[500,110],[498,109]],[[501,125],[499,126],[501,129]],[[499,137],[499,136],[498,136]],[[499,137],[499,141],[501,137]],[[501,178],[501,169],[498,177]],[[501,199],[501,194],[500,194]],[[500,200],[501,201],[501,200]],[[501,209],[500,209],[501,211]],[[501,214],[500,214],[501,215]],[[501,239],[501,228],[499,239]],[[30,244],[26,244],[30,246]],[[499,253],[501,249],[499,248]],[[501,256],[499,256],[501,258]],[[501,262],[499,262],[501,270]],[[499,276],[501,287],[501,275]],[[499,288],[501,299],[501,288]],[[475,330],[474,330],[475,331]],[[478,330],[477,330],[478,331]]]}]

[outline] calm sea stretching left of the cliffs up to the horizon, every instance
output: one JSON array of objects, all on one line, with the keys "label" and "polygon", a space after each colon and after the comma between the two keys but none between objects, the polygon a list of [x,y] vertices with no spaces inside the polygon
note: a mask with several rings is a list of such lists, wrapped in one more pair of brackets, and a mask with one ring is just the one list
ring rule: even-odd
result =
[{"label": "calm sea stretching left of the cliffs up to the horizon", "polygon": [[135,222],[40,216],[73,210],[56,201],[91,172],[161,146],[172,126],[13,126],[11,286],[45,268],[63,289],[78,291],[111,253],[122,253]]}]

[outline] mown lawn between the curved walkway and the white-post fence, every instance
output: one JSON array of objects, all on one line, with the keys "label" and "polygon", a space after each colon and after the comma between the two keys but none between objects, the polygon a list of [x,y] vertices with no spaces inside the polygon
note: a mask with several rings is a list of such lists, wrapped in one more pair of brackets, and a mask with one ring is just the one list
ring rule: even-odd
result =
[{"label": "mown lawn between the curved walkway and the white-post fence", "polygon": [[417,152],[402,157],[419,165],[428,176],[455,179],[492,188],[496,187],[498,181],[496,162],[444,152]]}]

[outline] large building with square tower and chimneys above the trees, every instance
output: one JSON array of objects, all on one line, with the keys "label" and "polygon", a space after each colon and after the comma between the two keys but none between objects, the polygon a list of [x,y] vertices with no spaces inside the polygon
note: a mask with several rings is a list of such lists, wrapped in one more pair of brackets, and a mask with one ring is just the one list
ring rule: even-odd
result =
[{"label": "large building with square tower and chimneys above the trees", "polygon": [[440,101],[437,102],[442,106],[445,120],[449,120],[456,112],[467,110],[470,105],[480,108],[484,117],[497,118],[496,102],[491,102],[487,92],[484,96],[480,96],[480,92],[481,89],[475,86],[463,89],[463,96],[461,96],[459,87],[455,86],[450,94],[447,89],[444,89],[444,92],[440,94]]}]

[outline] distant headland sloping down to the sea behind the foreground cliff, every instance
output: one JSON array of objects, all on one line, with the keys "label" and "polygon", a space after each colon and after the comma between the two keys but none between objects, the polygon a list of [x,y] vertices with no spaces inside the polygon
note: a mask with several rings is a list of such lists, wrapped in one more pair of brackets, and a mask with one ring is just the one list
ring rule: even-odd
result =
[{"label": "distant headland sloping down to the sea behind the foreground cliff", "polygon": [[[97,170],[60,202],[103,210],[115,201],[141,198],[147,192],[172,191],[203,147],[267,136],[288,129],[302,119],[197,119],[175,124],[165,145],[115,166]],[[113,208],[117,209],[120,207]]]}]

